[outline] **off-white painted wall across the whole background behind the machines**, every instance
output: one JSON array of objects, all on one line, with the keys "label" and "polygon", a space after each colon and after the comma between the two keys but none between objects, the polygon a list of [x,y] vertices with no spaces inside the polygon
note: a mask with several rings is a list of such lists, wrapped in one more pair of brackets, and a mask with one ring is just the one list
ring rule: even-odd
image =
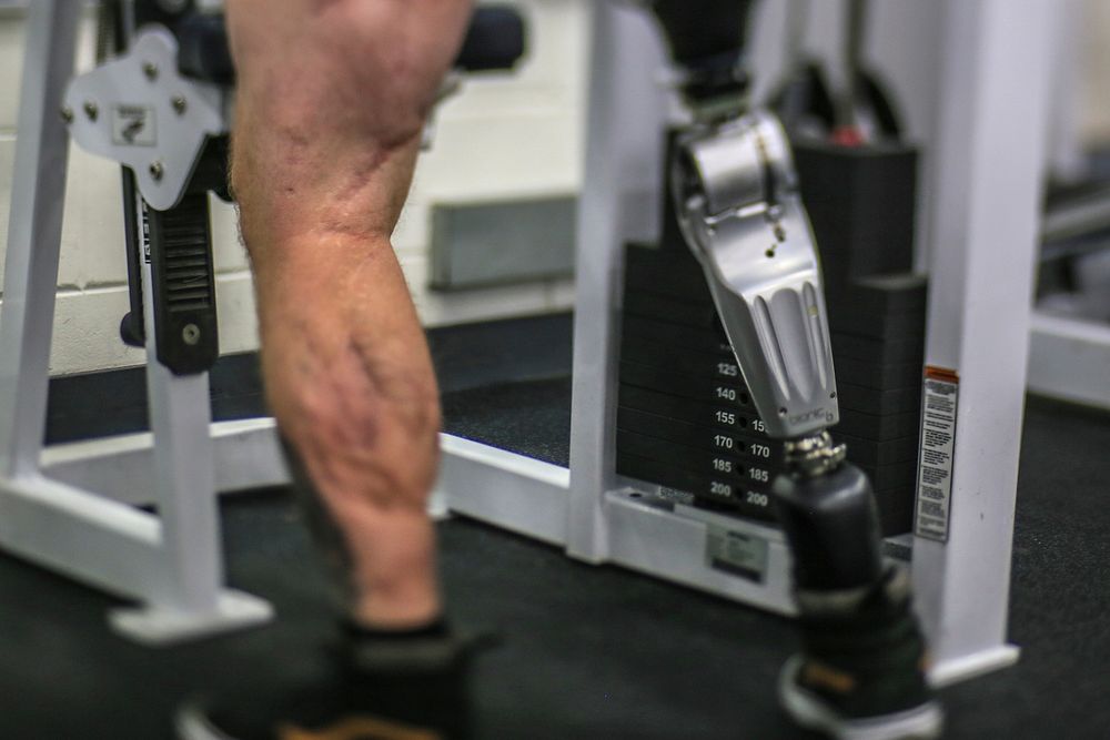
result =
[{"label": "off-white painted wall across the whole background behind the machines", "polygon": [[[418,165],[408,206],[394,237],[421,316],[428,325],[566,308],[568,281],[435,293],[426,288],[428,209],[435,202],[487,201],[573,193],[581,182],[586,93],[588,3],[594,0],[516,0],[534,31],[519,75],[472,79],[438,112],[434,149]],[[798,0],[793,0],[798,1]],[[1110,11],[1106,0],[1086,8],[1078,129],[1084,139],[1110,138]],[[7,234],[23,18],[0,0],[0,240]],[[766,85],[781,69],[787,0],[764,0],[755,61]],[[834,53],[842,0],[801,0],[811,18],[807,49]],[[931,139],[936,121],[937,0],[875,0],[868,57],[891,83],[911,136]],[[90,61],[88,29],[83,58]],[[758,92],[757,92],[758,95]],[[929,166],[928,160],[924,163]],[[58,317],[51,369],[71,373],[138,364],[141,353],[117,338],[127,311],[117,168],[74,151],[67,197]],[[245,255],[231,209],[214,215],[221,339],[224,352],[256,346]],[[924,220],[922,220],[924,221]]]}]

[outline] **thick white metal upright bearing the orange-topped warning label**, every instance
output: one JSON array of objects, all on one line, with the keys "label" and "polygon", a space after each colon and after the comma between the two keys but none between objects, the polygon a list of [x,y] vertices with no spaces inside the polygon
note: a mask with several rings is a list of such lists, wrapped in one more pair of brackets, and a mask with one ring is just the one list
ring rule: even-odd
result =
[{"label": "thick white metal upright bearing the orange-topped warning label", "polygon": [[959,374],[959,399],[947,541],[914,543],[940,683],[1017,659],[1006,629],[1054,10],[946,4],[926,362]]}]

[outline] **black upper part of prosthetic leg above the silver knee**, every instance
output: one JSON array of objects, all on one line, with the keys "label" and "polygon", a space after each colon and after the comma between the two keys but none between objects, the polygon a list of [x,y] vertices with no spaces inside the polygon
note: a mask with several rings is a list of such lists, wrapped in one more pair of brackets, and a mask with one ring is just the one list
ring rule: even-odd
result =
[{"label": "black upper part of prosthetic leg above the silver knee", "polygon": [[688,78],[692,101],[743,93],[745,38],[754,0],[654,0],[674,60]]}]

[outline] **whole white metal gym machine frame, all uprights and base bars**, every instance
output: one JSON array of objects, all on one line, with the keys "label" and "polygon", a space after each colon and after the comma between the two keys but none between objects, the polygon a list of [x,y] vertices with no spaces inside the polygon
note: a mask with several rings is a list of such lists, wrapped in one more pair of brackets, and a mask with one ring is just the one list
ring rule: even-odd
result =
[{"label": "whole white metal gym machine frame, all uprights and base bars", "polygon": [[[0,549],[138,600],[140,609],[113,614],[112,624],[147,642],[258,624],[266,605],[222,585],[214,491],[287,480],[272,419],[210,424],[206,376],[174,377],[150,353],[151,434],[42,449],[69,144],[59,111],[80,4],[37,0],[30,9],[16,156],[22,186],[13,190],[0,311]],[[646,16],[609,2],[595,2],[593,13],[572,465],[444,435],[436,501],[589,562],[793,614],[789,555],[776,528],[665,506],[657,490],[615,474],[623,246],[655,235],[659,138],[675,111],[658,84],[664,55]],[[962,384],[950,536],[912,543],[938,683],[1017,659],[1006,618],[1051,2],[946,0],[946,16],[930,183],[939,196],[925,214],[927,362],[958,369]],[[132,506],[150,503],[158,515]],[[722,534],[755,548],[761,581],[707,565],[707,540]]]}]

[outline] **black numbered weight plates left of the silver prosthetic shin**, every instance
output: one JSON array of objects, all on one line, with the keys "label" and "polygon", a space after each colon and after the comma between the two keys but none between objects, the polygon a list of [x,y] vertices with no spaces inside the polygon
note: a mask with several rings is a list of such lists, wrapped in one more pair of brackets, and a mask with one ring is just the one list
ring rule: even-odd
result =
[{"label": "black numbered weight plates left of the silver prosthetic shin", "polygon": [[625,264],[617,473],[773,520],[781,444],[763,430],[700,265],[685,247],[644,245]]}]

